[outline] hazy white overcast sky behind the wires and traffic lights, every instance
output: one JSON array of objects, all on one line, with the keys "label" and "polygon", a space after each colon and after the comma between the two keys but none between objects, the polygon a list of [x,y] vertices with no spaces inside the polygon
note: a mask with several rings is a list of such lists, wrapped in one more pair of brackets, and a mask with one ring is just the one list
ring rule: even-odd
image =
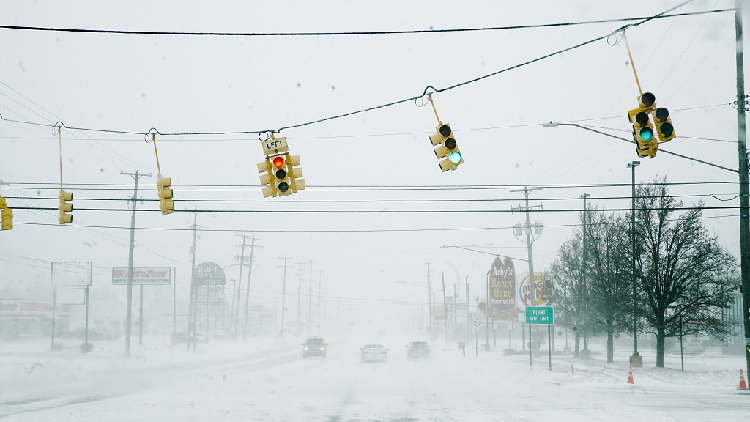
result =
[{"label": "hazy white overcast sky behind the wires and traffic lights", "polygon": [[[679,1],[324,1],[324,2],[2,2],[0,23],[120,30],[304,32],[410,30],[574,22],[660,13]],[[695,1],[677,12],[733,7],[733,1]],[[248,131],[278,128],[388,103],[473,79],[604,35],[622,24],[471,33],[328,37],[197,37],[43,33],[0,29],[0,114],[8,119],[145,132]],[[678,135],[736,140],[734,16],[731,12],[661,19],[628,31],[644,91],[668,107]],[[254,135],[157,138],[162,173],[172,177],[176,208],[226,210],[500,210],[521,203],[509,189],[374,192],[331,190],[321,185],[538,185],[629,183],[626,164],[638,159],[631,144],[570,127],[543,128],[548,121],[585,120],[629,138],[626,112],[638,95],[624,43],[592,45],[489,79],[435,94],[443,122],[453,127],[465,163],[441,173],[428,143],[436,120],[429,107],[394,107],[282,132],[292,154],[302,156],[308,189],[288,198],[263,199],[256,163],[263,159]],[[33,103],[31,102],[33,101]],[[34,104],[35,103],[35,104]],[[683,111],[678,111],[685,109]],[[606,118],[606,119],[605,119]],[[513,127],[516,126],[516,127]],[[215,142],[214,142],[215,141]],[[676,139],[666,149],[725,167],[737,167],[733,142]],[[142,136],[63,131],[65,183],[108,183],[130,189],[121,171],[156,173],[153,145]],[[4,183],[59,183],[57,137],[49,128],[0,122],[0,179]],[[666,175],[673,182],[736,182],[735,173],[663,153],[642,159],[637,181]],[[142,179],[139,196],[155,199],[155,179]],[[195,184],[246,185],[198,189]],[[145,186],[144,186],[145,185]],[[37,192],[3,186],[6,197],[56,198],[54,185]],[[132,191],[66,188],[76,208],[127,209]],[[674,187],[677,195],[730,199],[736,184]],[[532,199],[545,210],[576,210],[583,193],[606,209],[627,208],[630,187],[546,189]],[[226,203],[187,202],[223,199]],[[336,200],[366,200],[337,203]],[[412,202],[439,199],[501,199],[500,202]],[[708,206],[737,206],[708,197]],[[403,200],[404,202],[380,202]],[[300,201],[300,202],[298,202]],[[285,204],[287,202],[288,204]],[[56,207],[56,199],[9,199],[11,207]],[[533,201],[532,204],[539,204]],[[155,209],[155,203],[139,204]],[[706,211],[727,216],[734,210]],[[0,288],[47,282],[48,261],[93,261],[94,283],[112,287],[112,266],[127,265],[127,212],[74,212],[76,225],[55,224],[56,212],[16,210],[15,228],[0,233]],[[493,257],[443,245],[481,245],[525,258],[511,227],[519,213],[222,213],[198,215],[207,229],[372,230],[463,228],[449,232],[258,233],[263,249],[253,288],[271,299],[281,288],[282,265],[305,262],[323,270],[329,297],[421,301],[419,287],[432,263],[432,279],[469,277],[472,292]],[[576,224],[575,212],[532,215],[545,225],[534,244],[535,268],[549,266]],[[736,218],[704,220],[737,254]],[[136,225],[187,228],[192,214],[138,213]],[[136,234],[136,266],[176,266],[186,292],[189,232],[142,230]],[[239,238],[231,232],[200,234],[197,261],[234,263]],[[32,260],[33,259],[33,260]],[[39,260],[39,261],[35,261]],[[516,261],[519,271],[526,264]],[[237,277],[237,267],[227,269]],[[295,271],[289,280],[296,290]],[[246,274],[246,273],[245,273]],[[315,275],[318,279],[318,275]],[[294,281],[291,281],[294,280]],[[452,287],[452,286],[451,286]],[[120,290],[118,290],[120,289]],[[96,289],[95,289],[96,290]],[[31,294],[31,293],[29,293]],[[257,297],[257,296],[256,296]],[[363,302],[375,305],[377,302]]]}]

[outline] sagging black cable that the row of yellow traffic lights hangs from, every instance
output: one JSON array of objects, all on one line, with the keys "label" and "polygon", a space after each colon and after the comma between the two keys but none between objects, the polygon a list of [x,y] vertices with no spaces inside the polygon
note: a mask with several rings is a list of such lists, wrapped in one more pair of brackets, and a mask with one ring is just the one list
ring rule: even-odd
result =
[{"label": "sagging black cable that the row of yellow traffic lights hangs from", "polygon": [[[58,123],[56,125],[49,125],[49,124],[35,123],[35,122],[30,122],[30,121],[19,121],[19,120],[7,119],[7,118],[3,117],[2,115],[0,115],[0,119],[2,119],[4,121],[7,121],[7,122],[22,123],[22,124],[28,124],[28,125],[34,125],[34,126],[57,127],[58,125],[62,125],[62,127],[65,127],[66,129],[70,129],[70,130],[93,131],[93,132],[115,133],[115,134],[144,135],[144,136],[148,135],[148,134],[152,134],[152,133],[158,134],[160,136],[249,135],[249,134],[261,135],[261,134],[267,134],[267,133],[279,133],[279,132],[281,132],[283,130],[286,130],[286,129],[301,128],[301,127],[310,126],[310,125],[314,125],[314,124],[318,124],[318,123],[322,123],[322,122],[326,122],[326,121],[330,121],[330,120],[340,119],[340,118],[343,118],[343,117],[348,117],[348,116],[353,116],[353,115],[356,115],[356,114],[361,114],[361,113],[366,113],[366,112],[370,112],[370,111],[374,111],[374,110],[379,110],[379,109],[391,107],[391,106],[398,105],[398,104],[403,104],[403,103],[410,102],[410,101],[416,101],[416,100],[418,100],[420,98],[423,98],[423,97],[425,97],[427,95],[430,95],[432,93],[445,92],[445,91],[448,91],[448,90],[451,90],[451,89],[455,89],[455,88],[459,88],[459,87],[462,87],[462,86],[465,86],[465,85],[472,84],[474,82],[479,82],[481,80],[490,78],[492,76],[497,76],[497,75],[499,75],[501,73],[505,73],[505,72],[508,72],[510,70],[518,69],[520,67],[527,66],[527,65],[530,65],[530,64],[533,64],[533,63],[536,63],[536,62],[539,62],[539,61],[542,61],[542,60],[545,60],[545,59],[548,59],[548,58],[551,58],[551,57],[558,56],[558,55],[566,53],[568,51],[572,51],[572,50],[584,47],[586,45],[595,43],[597,41],[601,41],[601,40],[607,39],[607,38],[611,37],[614,34],[617,34],[619,32],[625,31],[628,28],[634,28],[634,27],[643,25],[644,23],[650,22],[650,21],[652,21],[654,19],[659,19],[659,18],[664,17],[664,16],[669,16],[669,15],[667,15],[667,13],[669,13],[669,12],[675,10],[675,9],[678,9],[678,8],[680,8],[680,7],[688,4],[688,3],[691,3],[693,1],[694,0],[686,0],[686,1],[684,1],[684,2],[682,2],[680,4],[678,4],[678,5],[676,5],[674,7],[671,7],[670,9],[668,9],[668,10],[662,12],[662,13],[659,13],[657,15],[653,15],[653,16],[650,16],[650,17],[647,17],[647,18],[636,19],[637,22],[623,25],[620,28],[618,28],[618,29],[616,29],[616,30],[614,30],[612,32],[609,32],[609,33],[607,33],[605,35],[602,35],[602,36],[599,36],[599,37],[596,37],[596,38],[593,38],[593,39],[589,39],[589,40],[584,41],[582,43],[573,45],[571,47],[564,48],[562,50],[558,50],[558,51],[555,51],[555,52],[552,52],[552,53],[549,53],[549,54],[537,57],[535,59],[528,60],[528,61],[525,61],[525,62],[516,64],[516,65],[510,66],[510,67],[507,67],[505,69],[498,70],[496,72],[488,73],[486,75],[482,75],[482,76],[476,77],[474,79],[470,79],[470,80],[466,80],[466,81],[463,81],[463,82],[459,82],[459,83],[456,83],[456,84],[453,84],[453,85],[446,86],[444,88],[435,88],[433,86],[427,86],[427,88],[425,88],[425,90],[422,92],[422,94],[418,95],[418,96],[404,98],[404,99],[400,99],[400,100],[396,100],[396,101],[391,101],[389,103],[385,103],[385,104],[381,104],[381,105],[377,105],[377,106],[372,106],[372,107],[367,107],[367,108],[364,108],[364,109],[355,110],[355,111],[351,111],[351,112],[348,112],[348,113],[343,113],[343,114],[337,114],[337,115],[333,115],[333,116],[328,116],[328,117],[320,118],[320,119],[317,119],[317,120],[311,120],[311,121],[304,122],[304,123],[298,123],[298,124],[293,124],[293,125],[288,125],[288,126],[282,126],[282,127],[278,128],[278,129],[263,129],[263,130],[250,130],[250,131],[230,131],[230,132],[165,132],[165,133],[162,133],[162,132],[160,132],[156,128],[151,128],[147,132],[135,132],[135,131],[114,130],[114,129],[94,129],[94,128],[85,128],[85,127],[75,127],[75,126],[67,126],[67,125],[64,125],[62,123]],[[734,10],[734,9],[727,9],[727,10]],[[24,27],[15,27],[15,26],[12,26],[12,25],[0,26],[0,28],[6,28],[6,29],[24,29]],[[31,28],[31,27],[28,27],[28,28]],[[26,29],[28,29],[28,28],[26,28]],[[53,30],[54,28],[49,28],[49,29]],[[71,31],[73,31],[73,30],[71,29]],[[81,31],[83,31],[83,30],[81,30]],[[98,31],[98,30],[91,30],[91,31]]]}]

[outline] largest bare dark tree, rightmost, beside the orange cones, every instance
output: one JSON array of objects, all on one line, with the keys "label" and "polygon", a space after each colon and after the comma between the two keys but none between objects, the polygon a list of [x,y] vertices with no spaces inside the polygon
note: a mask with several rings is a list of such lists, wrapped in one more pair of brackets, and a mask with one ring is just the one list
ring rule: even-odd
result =
[{"label": "largest bare dark tree, rightmost, beside the orange cones", "polygon": [[735,258],[703,226],[702,207],[681,209],[666,178],[636,189],[637,278],[642,315],[656,334],[657,367],[664,367],[664,339],[678,334],[680,318],[695,333],[726,331],[721,312],[739,283]]}]

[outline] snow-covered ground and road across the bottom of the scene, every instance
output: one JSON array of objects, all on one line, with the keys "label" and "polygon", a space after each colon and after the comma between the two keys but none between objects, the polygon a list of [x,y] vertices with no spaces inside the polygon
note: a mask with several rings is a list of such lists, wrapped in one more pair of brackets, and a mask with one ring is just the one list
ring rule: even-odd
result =
[{"label": "snow-covered ground and road across the bottom of the scene", "polygon": [[[0,417],[9,421],[738,421],[750,420],[750,395],[737,390],[742,357],[709,349],[669,355],[669,368],[644,368],[626,383],[627,351],[614,364],[553,356],[503,356],[474,348],[433,349],[407,362],[409,339],[380,342],[384,364],[360,364],[362,346],[328,339],[327,359],[301,359],[300,339],[252,339],[185,346],[121,342],[83,355],[44,342],[0,348]],[[137,343],[137,341],[136,341]],[[364,343],[363,343],[364,344]],[[473,346],[473,345],[472,345]],[[592,345],[592,350],[597,350]],[[33,370],[35,362],[41,363]],[[571,371],[571,365],[573,365]],[[676,369],[675,369],[676,368]]]}]

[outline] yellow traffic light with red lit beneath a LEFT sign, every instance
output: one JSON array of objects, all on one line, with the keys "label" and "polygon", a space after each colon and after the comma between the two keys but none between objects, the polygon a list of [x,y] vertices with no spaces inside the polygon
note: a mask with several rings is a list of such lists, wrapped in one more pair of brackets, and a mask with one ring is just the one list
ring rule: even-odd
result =
[{"label": "yellow traffic light with red lit beneath a LEFT sign", "polygon": [[263,173],[260,175],[263,197],[288,196],[304,190],[302,169],[295,168],[300,164],[300,156],[289,155],[286,138],[275,138],[271,134],[262,144],[266,159],[258,163],[258,172]]}]

